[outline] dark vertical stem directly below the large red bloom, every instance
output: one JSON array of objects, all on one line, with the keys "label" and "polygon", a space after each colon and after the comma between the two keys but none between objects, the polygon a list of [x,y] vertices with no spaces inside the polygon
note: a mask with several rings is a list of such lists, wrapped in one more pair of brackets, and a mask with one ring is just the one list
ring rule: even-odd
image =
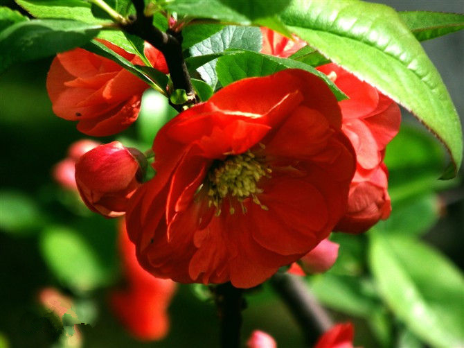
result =
[{"label": "dark vertical stem directly below the large red bloom", "polygon": [[242,310],[245,302],[243,290],[231,283],[220,284],[213,290],[220,318],[221,347],[240,347],[240,329],[242,328]]}]

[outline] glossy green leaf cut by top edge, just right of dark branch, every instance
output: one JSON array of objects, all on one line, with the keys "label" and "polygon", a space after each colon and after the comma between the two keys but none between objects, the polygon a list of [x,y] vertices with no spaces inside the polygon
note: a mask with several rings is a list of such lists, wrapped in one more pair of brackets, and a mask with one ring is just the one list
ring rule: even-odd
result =
[{"label": "glossy green leaf cut by top edge, just right of dark branch", "polygon": [[289,35],[289,31],[277,15],[288,6],[290,0],[175,0],[167,1],[163,8],[178,15],[214,19],[227,24],[267,26]]}]

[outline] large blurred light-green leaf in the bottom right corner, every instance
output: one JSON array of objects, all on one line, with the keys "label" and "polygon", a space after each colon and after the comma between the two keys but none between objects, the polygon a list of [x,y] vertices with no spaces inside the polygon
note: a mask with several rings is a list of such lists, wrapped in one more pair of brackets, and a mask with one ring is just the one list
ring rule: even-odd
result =
[{"label": "large blurred light-green leaf in the bottom right corner", "polygon": [[464,278],[413,238],[371,234],[371,270],[380,295],[418,337],[436,347],[464,344]]}]

